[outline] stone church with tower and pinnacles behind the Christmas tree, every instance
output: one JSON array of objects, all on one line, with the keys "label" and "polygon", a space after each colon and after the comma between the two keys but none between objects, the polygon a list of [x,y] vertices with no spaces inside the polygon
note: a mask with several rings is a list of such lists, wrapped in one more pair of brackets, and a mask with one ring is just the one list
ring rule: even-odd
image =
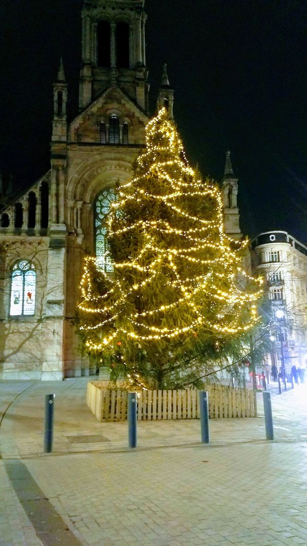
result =
[{"label": "stone church with tower and pinnacles behind the Christmas tree", "polygon": [[[85,0],[81,17],[79,114],[67,118],[61,61],[50,170],[1,211],[0,379],[61,380],[96,371],[73,325],[82,263],[96,254],[105,271],[110,266],[105,219],[115,183],[131,179],[145,146],[149,79],[144,0]],[[166,66],[161,106],[173,117]],[[226,232],[235,239],[241,237],[237,182],[227,152],[221,185]]]}]

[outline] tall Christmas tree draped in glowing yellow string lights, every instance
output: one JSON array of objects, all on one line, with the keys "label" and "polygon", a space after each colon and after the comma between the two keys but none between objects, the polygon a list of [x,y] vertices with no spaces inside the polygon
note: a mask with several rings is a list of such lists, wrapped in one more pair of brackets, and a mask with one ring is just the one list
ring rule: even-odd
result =
[{"label": "tall Christmas tree draped in glowing yellow string lights", "polygon": [[189,167],[164,109],[147,125],[133,180],[116,194],[114,272],[86,258],[80,334],[113,377],[182,387],[256,324],[261,279],[242,270],[247,242],[226,235],[220,190]]}]

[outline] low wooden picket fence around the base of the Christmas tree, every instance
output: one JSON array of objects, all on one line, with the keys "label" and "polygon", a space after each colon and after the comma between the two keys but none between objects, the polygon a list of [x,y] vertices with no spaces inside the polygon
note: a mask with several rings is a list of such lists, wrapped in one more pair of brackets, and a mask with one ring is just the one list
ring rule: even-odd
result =
[{"label": "low wooden picket fence around the base of the Christmas tree", "polygon": [[[87,383],[86,403],[98,421],[127,419],[127,390],[109,390],[107,381]],[[256,394],[249,389],[204,385],[209,396],[209,417],[257,417]],[[138,391],[138,420],[199,419],[198,390]]]}]

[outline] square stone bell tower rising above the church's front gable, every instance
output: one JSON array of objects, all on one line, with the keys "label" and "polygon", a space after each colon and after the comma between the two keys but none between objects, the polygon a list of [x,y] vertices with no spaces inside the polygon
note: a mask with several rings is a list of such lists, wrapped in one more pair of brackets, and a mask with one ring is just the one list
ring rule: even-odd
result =
[{"label": "square stone bell tower rising above the church's front gable", "polygon": [[144,0],[85,0],[79,109],[115,85],[147,113]]}]

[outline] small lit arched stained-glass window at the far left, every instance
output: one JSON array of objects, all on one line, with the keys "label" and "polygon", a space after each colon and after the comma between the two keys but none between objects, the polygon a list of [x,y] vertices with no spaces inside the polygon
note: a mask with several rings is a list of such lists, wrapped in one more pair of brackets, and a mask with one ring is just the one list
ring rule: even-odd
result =
[{"label": "small lit arched stained-glass window at the far left", "polygon": [[35,312],[36,272],[27,260],[17,262],[11,274],[10,316],[30,316]]}]

